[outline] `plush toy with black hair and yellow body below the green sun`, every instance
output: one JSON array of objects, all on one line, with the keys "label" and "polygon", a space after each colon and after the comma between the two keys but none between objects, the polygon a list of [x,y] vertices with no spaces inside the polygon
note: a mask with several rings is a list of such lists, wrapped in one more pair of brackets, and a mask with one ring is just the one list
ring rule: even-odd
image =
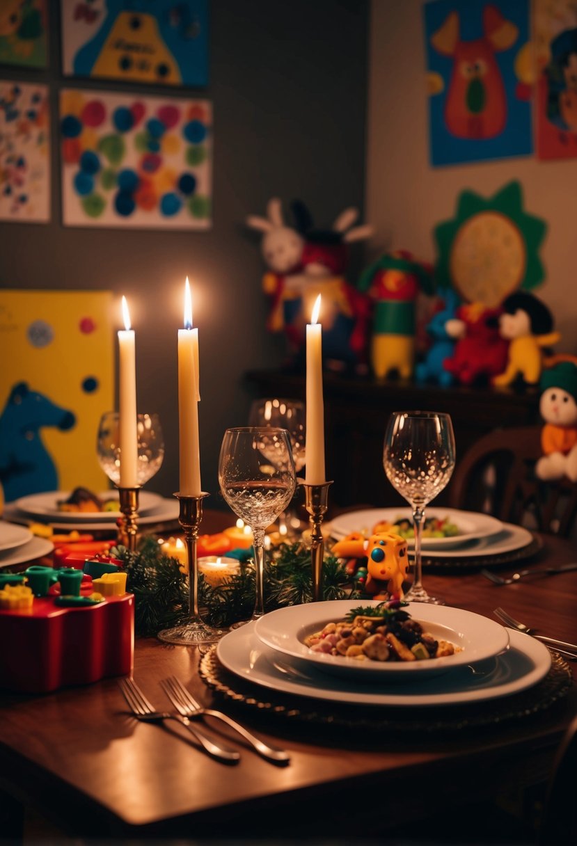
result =
[{"label": "plush toy with black hair and yellow body below the green sun", "polygon": [[552,327],[551,311],[534,294],[517,291],[504,299],[499,333],[510,342],[508,364],[503,373],[493,377],[493,385],[510,385],[519,376],[528,385],[538,384],[543,348],[561,338],[558,332],[552,332]]}]

